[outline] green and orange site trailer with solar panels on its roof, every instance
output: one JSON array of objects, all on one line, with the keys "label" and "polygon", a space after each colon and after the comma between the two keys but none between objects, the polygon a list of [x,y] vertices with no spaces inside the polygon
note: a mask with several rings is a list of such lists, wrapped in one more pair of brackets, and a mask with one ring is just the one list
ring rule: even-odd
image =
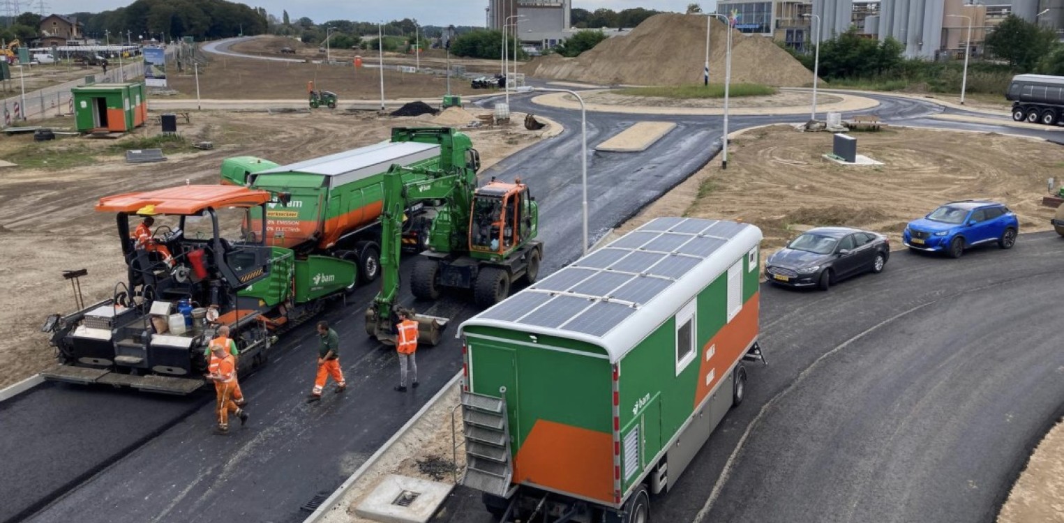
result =
[{"label": "green and orange site trailer with solar panels on its roof", "polygon": [[464,322],[465,485],[508,520],[548,493],[553,518],[645,517],[760,358],[761,238],[659,218]]}]

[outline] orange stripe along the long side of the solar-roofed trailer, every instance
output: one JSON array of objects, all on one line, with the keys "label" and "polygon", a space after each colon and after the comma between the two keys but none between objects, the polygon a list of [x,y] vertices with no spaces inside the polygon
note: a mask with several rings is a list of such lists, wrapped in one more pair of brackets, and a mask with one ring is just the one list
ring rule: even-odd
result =
[{"label": "orange stripe along the long side of the solar-roofed trailer", "polygon": [[[760,292],[755,292],[743,308],[725,324],[703,347],[699,355],[701,365],[698,370],[698,392],[695,394],[695,408],[710,394],[713,387],[724,378],[731,365],[746,353],[746,350],[758,339],[758,317]],[[713,355],[710,355],[713,351]]]}]

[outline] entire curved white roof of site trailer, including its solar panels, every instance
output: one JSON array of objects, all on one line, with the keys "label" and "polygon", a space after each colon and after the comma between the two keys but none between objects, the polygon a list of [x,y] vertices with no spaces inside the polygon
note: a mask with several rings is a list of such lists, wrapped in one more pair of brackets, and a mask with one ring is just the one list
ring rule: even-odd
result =
[{"label": "entire curved white roof of site trailer, including its solar panels", "polygon": [[466,320],[578,339],[611,361],[643,340],[758,248],[761,230],[698,218],[658,218]]}]

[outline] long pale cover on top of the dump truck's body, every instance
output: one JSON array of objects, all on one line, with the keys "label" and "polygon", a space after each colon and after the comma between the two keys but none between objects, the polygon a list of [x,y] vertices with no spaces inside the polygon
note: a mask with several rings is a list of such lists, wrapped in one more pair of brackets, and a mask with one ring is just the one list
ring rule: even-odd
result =
[{"label": "long pale cover on top of the dump truck's body", "polygon": [[333,187],[380,174],[392,164],[409,166],[439,155],[439,146],[416,141],[382,141],[328,156],[283,165],[255,175],[302,172],[329,176]]}]

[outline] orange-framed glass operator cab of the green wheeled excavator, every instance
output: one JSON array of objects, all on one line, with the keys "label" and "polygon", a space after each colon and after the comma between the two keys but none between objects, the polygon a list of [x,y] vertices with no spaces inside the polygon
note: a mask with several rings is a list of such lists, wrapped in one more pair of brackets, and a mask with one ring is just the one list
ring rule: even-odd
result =
[{"label": "orange-framed glass operator cab of the green wheeled excavator", "polygon": [[504,257],[535,237],[538,220],[534,200],[520,179],[513,184],[493,180],[477,189],[469,220],[473,257]]}]

